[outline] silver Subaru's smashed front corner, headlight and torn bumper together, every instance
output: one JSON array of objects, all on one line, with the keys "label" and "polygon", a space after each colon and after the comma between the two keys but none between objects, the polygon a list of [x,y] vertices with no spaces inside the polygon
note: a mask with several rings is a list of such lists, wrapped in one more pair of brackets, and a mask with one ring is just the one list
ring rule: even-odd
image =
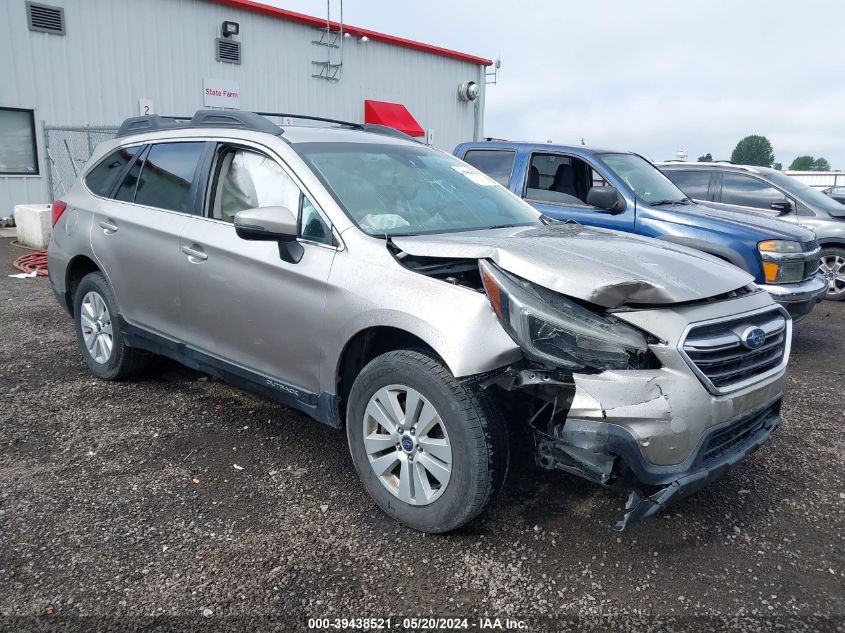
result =
[{"label": "silver Subaru's smashed front corner, headlight and torn bumper together", "polygon": [[489,262],[479,268],[525,355],[487,386],[528,403],[538,466],[628,491],[615,529],[706,486],[778,426],[779,383],[716,401],[689,372],[663,367],[652,347],[665,341]]}]

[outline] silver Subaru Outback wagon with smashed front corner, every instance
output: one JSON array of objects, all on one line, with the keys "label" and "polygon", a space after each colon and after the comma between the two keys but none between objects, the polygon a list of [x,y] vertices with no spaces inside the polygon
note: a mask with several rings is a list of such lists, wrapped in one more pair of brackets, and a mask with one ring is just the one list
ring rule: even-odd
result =
[{"label": "silver Subaru Outback wagon with smashed front corner", "polygon": [[95,375],[162,354],[345,428],[419,530],[488,505],[508,427],[539,468],[628,492],[622,529],[780,422],[792,324],[748,274],[557,223],[387,128],[129,119],[53,217],[50,282]]}]

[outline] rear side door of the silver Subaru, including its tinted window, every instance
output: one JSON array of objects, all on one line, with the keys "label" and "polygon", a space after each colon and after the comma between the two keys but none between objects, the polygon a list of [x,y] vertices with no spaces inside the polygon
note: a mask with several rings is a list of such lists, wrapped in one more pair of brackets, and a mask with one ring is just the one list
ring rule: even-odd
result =
[{"label": "rear side door of the silver Subaru, including its tinted window", "polygon": [[91,247],[122,316],[146,330],[181,339],[179,235],[196,208],[204,142],[140,148],[110,197],[93,210]]}]

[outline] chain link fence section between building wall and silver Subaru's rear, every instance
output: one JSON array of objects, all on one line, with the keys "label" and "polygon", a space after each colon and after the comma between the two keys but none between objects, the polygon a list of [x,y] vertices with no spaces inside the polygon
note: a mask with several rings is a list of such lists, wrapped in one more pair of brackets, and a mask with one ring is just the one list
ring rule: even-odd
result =
[{"label": "chain link fence section between building wall and silver Subaru's rear", "polygon": [[117,133],[117,127],[90,125],[45,125],[47,184],[51,200],[58,200],[70,189],[94,148]]}]

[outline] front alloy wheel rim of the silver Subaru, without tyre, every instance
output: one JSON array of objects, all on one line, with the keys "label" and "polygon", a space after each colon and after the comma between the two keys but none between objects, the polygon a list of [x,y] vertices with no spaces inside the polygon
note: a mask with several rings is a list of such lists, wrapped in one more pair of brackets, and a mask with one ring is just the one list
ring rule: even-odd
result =
[{"label": "front alloy wheel rim of the silver Subaru, without tyre", "polygon": [[409,505],[433,503],[449,483],[449,435],[416,389],[388,385],[373,394],[364,413],[364,448],[382,485]]}]

